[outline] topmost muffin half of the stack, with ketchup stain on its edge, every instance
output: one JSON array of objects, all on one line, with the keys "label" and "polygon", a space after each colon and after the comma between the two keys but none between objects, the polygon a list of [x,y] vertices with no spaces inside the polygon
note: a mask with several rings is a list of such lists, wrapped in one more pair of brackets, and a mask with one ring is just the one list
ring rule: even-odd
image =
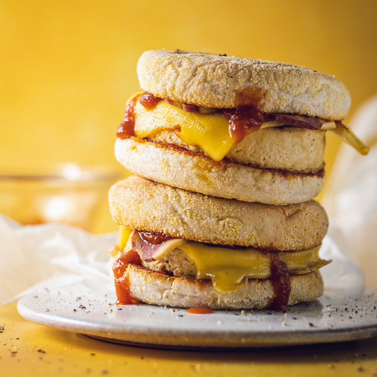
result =
[{"label": "topmost muffin half of the stack, with ketchup stain on its edge", "polygon": [[146,51],[138,62],[143,90],[196,106],[258,106],[264,113],[345,118],[351,100],[333,76],[305,67],[185,51]]}]

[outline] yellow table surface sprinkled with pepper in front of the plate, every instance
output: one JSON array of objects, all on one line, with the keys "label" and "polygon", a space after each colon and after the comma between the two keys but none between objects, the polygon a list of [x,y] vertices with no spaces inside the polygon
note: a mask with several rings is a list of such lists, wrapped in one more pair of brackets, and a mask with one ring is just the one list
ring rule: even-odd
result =
[{"label": "yellow table surface sprinkled with pepper in front of the plate", "polygon": [[[377,376],[377,338],[262,351],[169,351],[118,345],[0,307],[0,376]],[[2,333],[1,333],[2,331]]]}]

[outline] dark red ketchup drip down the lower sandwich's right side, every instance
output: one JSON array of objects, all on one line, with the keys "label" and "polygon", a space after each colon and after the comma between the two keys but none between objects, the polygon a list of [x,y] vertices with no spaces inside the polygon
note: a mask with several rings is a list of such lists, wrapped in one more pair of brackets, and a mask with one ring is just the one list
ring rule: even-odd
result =
[{"label": "dark red ketchup drip down the lower sandwich's right side", "polygon": [[279,259],[277,253],[269,253],[271,259],[270,280],[274,289],[272,310],[287,310],[289,295],[291,293],[291,274],[284,261]]}]

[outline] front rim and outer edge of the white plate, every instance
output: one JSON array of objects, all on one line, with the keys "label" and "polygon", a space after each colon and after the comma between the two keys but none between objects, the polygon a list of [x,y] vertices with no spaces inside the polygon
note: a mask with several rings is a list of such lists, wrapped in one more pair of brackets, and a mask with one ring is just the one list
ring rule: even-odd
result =
[{"label": "front rim and outer edge of the white plate", "polygon": [[[157,328],[149,325],[128,325],[127,323],[119,326],[106,320],[72,319],[60,316],[59,313],[44,313],[28,307],[27,302],[30,297],[31,295],[22,297],[17,305],[18,312],[26,319],[41,325],[74,331],[110,342],[139,346],[258,348],[345,342],[377,336],[377,319],[369,325],[353,325],[349,328],[310,328],[290,332],[281,330],[251,331],[241,328],[227,331],[183,328],[177,330],[176,328]],[[168,311],[169,308],[165,310]],[[230,315],[231,312],[229,312]]]}]

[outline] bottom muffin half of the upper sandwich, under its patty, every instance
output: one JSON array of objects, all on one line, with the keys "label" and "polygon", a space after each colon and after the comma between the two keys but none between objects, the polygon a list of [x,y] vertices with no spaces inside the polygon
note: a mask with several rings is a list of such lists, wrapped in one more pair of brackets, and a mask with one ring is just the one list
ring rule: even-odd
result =
[{"label": "bottom muffin half of the upper sandwich, under its patty", "polygon": [[307,202],[322,190],[323,170],[290,173],[223,161],[204,153],[138,138],[117,139],[116,159],[130,172],[180,189],[220,198],[281,205]]}]

